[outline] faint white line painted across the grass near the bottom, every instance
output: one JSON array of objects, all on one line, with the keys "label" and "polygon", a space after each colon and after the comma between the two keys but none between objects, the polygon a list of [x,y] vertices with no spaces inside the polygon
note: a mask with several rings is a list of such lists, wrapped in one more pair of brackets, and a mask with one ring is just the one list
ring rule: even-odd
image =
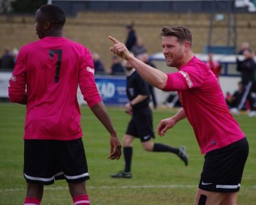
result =
[{"label": "faint white line painted across the grass near the bottom", "polygon": [[[176,189],[176,188],[197,188],[198,186],[195,185],[185,185],[185,184],[173,184],[173,185],[143,185],[143,186],[100,186],[100,187],[95,187],[95,186],[86,186],[87,189],[154,189],[154,188],[160,188],[160,189],[165,189],[165,188],[172,188],[172,189]],[[256,185],[255,186],[242,186],[242,187],[246,187],[246,188],[251,188],[251,189],[256,189]],[[68,187],[45,187],[45,190],[65,190],[65,189],[69,189]],[[0,189],[0,193],[3,192],[14,192],[14,191],[25,191],[25,189],[23,188],[14,188],[14,189]]]}]

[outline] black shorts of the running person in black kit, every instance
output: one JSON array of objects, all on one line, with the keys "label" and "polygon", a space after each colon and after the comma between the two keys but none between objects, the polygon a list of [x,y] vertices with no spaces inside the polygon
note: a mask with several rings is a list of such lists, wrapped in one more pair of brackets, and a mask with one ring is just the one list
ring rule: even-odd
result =
[{"label": "black shorts of the running person in black kit", "polygon": [[154,138],[152,110],[150,107],[139,109],[132,113],[132,120],[130,120],[126,135],[139,137],[141,142]]}]

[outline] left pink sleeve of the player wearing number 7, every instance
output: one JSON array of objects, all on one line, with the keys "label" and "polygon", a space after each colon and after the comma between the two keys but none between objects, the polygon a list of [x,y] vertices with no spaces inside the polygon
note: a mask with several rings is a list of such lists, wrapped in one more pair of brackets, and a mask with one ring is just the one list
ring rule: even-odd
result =
[{"label": "left pink sleeve of the player wearing number 7", "polygon": [[27,83],[27,68],[23,55],[23,49],[19,52],[12,72],[12,77],[9,80],[8,94],[12,102],[21,102],[25,96]]}]

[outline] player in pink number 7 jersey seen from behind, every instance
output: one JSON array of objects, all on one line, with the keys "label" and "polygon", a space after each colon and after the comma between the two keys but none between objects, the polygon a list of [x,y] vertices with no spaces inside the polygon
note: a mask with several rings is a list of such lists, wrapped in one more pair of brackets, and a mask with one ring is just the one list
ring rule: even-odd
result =
[{"label": "player in pink number 7 jersey seen from behind", "polygon": [[63,36],[65,20],[56,5],[37,10],[35,27],[40,40],[21,48],[10,79],[10,99],[27,105],[24,204],[40,204],[44,185],[56,179],[67,180],[74,204],[90,204],[78,85],[84,100],[110,133],[108,158],[121,156],[117,133],[97,91],[91,53]]}]

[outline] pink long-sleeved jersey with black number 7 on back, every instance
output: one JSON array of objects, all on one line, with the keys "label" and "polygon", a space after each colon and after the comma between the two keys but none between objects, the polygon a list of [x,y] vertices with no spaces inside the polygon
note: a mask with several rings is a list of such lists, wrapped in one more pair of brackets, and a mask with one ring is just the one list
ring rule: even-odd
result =
[{"label": "pink long-sleeved jersey with black number 7 on back", "polygon": [[78,85],[89,107],[100,102],[91,53],[62,37],[23,46],[10,79],[9,96],[21,102],[27,90],[24,139],[82,137]]}]

